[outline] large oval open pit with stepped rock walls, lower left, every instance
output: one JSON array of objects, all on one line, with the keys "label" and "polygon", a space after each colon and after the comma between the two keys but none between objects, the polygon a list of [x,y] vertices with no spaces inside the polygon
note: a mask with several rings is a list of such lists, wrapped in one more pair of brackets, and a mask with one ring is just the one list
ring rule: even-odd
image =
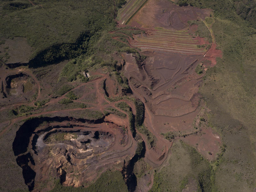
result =
[{"label": "large oval open pit with stepped rock walls, lower left", "polygon": [[[46,121],[47,125],[42,125]],[[135,149],[136,142],[117,124],[69,117],[29,120],[13,142],[31,191],[48,191],[53,178],[65,186],[84,186],[107,168],[122,169],[122,162],[132,159]],[[44,183],[49,187],[43,187]]]}]

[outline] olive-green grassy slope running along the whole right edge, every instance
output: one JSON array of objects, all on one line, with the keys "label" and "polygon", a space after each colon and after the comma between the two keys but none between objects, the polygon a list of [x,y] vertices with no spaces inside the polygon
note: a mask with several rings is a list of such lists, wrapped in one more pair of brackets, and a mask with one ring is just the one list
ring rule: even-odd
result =
[{"label": "olive-green grassy slope running along the whole right edge", "polygon": [[[207,69],[200,88],[206,106],[211,109],[208,121],[227,145],[216,162],[215,186],[219,191],[252,191],[256,185],[252,152],[256,143],[255,6],[253,1],[239,0],[189,2],[213,9],[212,31],[223,53],[217,65]],[[248,14],[250,7],[254,14]],[[237,180],[236,173],[243,177]]]}]

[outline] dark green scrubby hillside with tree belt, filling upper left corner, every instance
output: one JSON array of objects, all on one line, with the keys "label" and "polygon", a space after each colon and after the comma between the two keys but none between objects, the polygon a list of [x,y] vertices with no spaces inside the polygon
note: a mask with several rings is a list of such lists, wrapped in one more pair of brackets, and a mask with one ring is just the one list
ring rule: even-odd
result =
[{"label": "dark green scrubby hillside with tree belt, filling upper left corner", "polygon": [[[46,62],[78,56],[86,51],[90,38],[94,41],[99,36],[100,30],[115,27],[115,5],[110,0],[33,3],[0,2],[0,37],[27,37],[28,44],[36,49],[34,56],[39,53]],[[119,1],[118,6],[123,3]]]}]

